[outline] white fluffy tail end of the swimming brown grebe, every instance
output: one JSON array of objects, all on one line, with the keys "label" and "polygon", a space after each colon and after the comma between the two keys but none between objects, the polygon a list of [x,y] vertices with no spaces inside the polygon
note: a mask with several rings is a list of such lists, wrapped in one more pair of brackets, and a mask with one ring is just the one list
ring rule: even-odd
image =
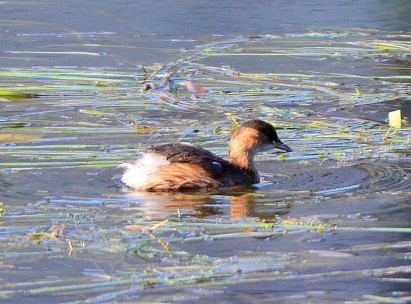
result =
[{"label": "white fluffy tail end of the swimming brown grebe", "polygon": [[153,153],[143,154],[134,164],[122,163],[119,165],[121,168],[126,168],[121,182],[130,188],[143,189],[150,175],[160,166],[169,163],[163,156]]}]

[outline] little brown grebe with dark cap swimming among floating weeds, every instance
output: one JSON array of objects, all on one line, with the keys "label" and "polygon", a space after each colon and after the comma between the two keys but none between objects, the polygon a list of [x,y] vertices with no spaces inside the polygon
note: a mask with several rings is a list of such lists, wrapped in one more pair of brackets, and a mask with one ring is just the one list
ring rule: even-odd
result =
[{"label": "little brown grebe with dark cap swimming among floating weeds", "polygon": [[163,144],[145,150],[135,164],[121,164],[126,168],[121,181],[148,192],[251,185],[260,181],[254,155],[272,148],[292,151],[272,125],[251,120],[234,132],[229,161],[190,144]]}]

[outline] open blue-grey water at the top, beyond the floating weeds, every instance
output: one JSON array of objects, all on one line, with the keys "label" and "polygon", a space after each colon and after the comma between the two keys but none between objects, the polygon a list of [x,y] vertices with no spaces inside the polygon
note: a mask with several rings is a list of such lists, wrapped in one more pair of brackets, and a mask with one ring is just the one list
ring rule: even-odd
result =
[{"label": "open blue-grey water at the top, beyond the floating weeds", "polygon": [[[411,2],[397,1],[31,1],[2,2],[0,67],[33,65],[118,66],[168,62],[170,49],[192,48],[218,35],[303,33],[311,27],[408,31]],[[90,33],[85,36],[33,34]],[[123,44],[107,35],[98,44],[94,32],[125,35]],[[28,34],[29,36],[25,36]],[[114,41],[113,41],[114,40]],[[179,41],[180,40],[180,41]],[[195,42],[190,42],[195,40]],[[27,58],[13,50],[65,50],[70,42],[83,50],[109,51],[110,58]],[[113,47],[113,48],[110,48]],[[117,46],[117,47],[114,47]],[[126,48],[127,47],[127,48]],[[150,51],[147,51],[148,48]],[[6,52],[6,53],[4,53]],[[62,58],[63,57],[63,58]],[[69,56],[70,57],[70,56]],[[9,62],[9,59],[11,62]]]}]

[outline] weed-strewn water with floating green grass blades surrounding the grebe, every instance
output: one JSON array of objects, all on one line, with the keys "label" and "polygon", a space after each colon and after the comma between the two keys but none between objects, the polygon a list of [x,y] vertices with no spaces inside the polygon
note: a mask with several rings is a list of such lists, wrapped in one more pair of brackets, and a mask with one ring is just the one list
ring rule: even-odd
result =
[{"label": "weed-strewn water with floating green grass blades surrounding the grebe", "polygon": [[[308,30],[221,39],[132,72],[1,69],[0,298],[24,292],[67,303],[170,302],[177,296],[162,289],[179,291],[182,301],[212,297],[235,283],[286,281],[307,301],[409,301],[409,291],[313,295],[296,281],[316,278],[319,291],[321,282],[352,277],[410,286],[411,243],[401,237],[411,233],[409,220],[377,211],[390,203],[388,210],[409,214],[404,151],[411,128],[405,119],[401,128],[387,122],[389,111],[410,100],[410,37]],[[294,172],[268,176],[251,192],[135,197],[121,191],[115,167],[139,149],[186,141],[225,155],[233,130],[253,118],[270,121],[296,151],[258,160],[286,163]],[[339,180],[330,172],[341,167],[364,177]],[[295,185],[289,190],[283,180]],[[278,187],[265,186],[273,183]],[[375,214],[363,213],[369,207],[362,202],[375,204]],[[290,206],[309,204],[328,211],[288,215]],[[341,213],[333,212],[341,204]],[[389,242],[381,233],[401,236]],[[248,246],[237,247],[243,242]],[[381,267],[376,256],[392,262]],[[60,264],[71,270],[61,275]],[[154,289],[145,293],[148,288]],[[290,299],[278,296],[278,302]]]}]

